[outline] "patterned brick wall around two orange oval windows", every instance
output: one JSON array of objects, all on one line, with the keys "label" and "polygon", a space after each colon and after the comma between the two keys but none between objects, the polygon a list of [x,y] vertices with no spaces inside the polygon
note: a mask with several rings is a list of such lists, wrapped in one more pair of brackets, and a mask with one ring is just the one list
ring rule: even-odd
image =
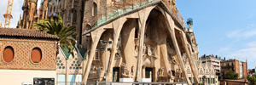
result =
[{"label": "patterned brick wall around two orange oval windows", "polygon": [[[14,48],[14,59],[11,62],[3,60],[3,50],[6,47]],[[42,59],[33,63],[32,49],[40,48]],[[0,38],[0,69],[20,70],[52,70],[55,71],[56,43],[54,40],[31,38]]]}]

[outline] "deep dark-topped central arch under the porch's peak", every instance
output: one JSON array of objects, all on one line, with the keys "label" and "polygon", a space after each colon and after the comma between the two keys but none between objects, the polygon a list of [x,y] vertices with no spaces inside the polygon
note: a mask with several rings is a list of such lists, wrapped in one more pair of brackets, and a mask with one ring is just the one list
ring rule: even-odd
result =
[{"label": "deep dark-topped central arch under the porch's peak", "polygon": [[[163,9],[159,7],[153,8],[148,14],[148,18],[146,19],[143,44],[147,46],[147,50],[144,54],[148,54],[149,56],[154,55],[156,59],[152,60],[152,62],[160,63],[160,65],[151,65],[151,67],[154,67],[153,77],[160,77],[157,75],[157,71],[159,70],[163,72],[163,75],[161,76],[164,77],[167,77],[168,71],[171,71],[168,60],[168,48],[166,45],[167,37],[171,38],[171,33],[168,32],[169,25],[167,23],[168,20],[166,19],[166,15]],[[173,44],[171,45],[173,46]],[[148,52],[151,52],[151,54],[149,54]],[[157,78],[153,78],[153,82],[157,81],[165,82],[169,80],[157,80]]]}]

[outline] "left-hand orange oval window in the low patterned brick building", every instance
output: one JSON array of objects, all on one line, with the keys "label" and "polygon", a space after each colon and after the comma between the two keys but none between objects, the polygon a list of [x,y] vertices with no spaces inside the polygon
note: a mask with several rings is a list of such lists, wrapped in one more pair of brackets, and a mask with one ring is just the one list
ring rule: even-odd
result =
[{"label": "left-hand orange oval window in the low patterned brick building", "polygon": [[10,47],[10,46],[4,48],[4,50],[3,50],[3,60],[4,60],[5,62],[11,62],[11,61],[13,61],[14,56],[15,56],[14,48],[12,48],[12,47]]}]

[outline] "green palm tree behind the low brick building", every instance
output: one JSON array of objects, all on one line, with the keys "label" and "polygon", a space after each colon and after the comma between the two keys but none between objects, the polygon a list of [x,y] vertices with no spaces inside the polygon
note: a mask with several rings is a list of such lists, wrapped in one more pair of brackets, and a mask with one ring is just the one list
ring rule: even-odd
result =
[{"label": "green palm tree behind the low brick building", "polygon": [[49,34],[55,35],[60,38],[58,41],[61,44],[61,48],[68,48],[69,52],[73,54],[73,47],[76,44],[76,40],[72,36],[77,36],[78,33],[74,31],[76,26],[65,27],[62,23],[61,15],[58,15],[58,20],[39,20],[38,23],[34,23],[35,27],[38,27],[39,31],[44,31]]}]

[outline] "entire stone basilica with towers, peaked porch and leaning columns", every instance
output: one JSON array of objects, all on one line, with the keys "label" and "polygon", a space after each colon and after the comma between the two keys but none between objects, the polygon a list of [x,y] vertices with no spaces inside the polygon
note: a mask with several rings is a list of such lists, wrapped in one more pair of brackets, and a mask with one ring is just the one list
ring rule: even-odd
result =
[{"label": "entire stone basilica with towers, peaked porch and leaning columns", "polygon": [[77,27],[75,56],[59,48],[55,59],[55,81],[60,85],[96,81],[218,84],[214,67],[199,58],[193,20],[184,23],[176,0],[24,0],[22,10],[20,29],[36,29],[33,23],[58,14],[65,26]]}]

